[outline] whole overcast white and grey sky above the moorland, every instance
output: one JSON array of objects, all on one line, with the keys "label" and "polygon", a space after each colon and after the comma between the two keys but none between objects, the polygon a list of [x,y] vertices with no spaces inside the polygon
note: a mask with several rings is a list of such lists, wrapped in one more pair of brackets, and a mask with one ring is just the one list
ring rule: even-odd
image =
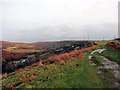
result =
[{"label": "whole overcast white and grey sky above the moorland", "polygon": [[99,40],[118,36],[119,0],[2,0],[3,41]]}]

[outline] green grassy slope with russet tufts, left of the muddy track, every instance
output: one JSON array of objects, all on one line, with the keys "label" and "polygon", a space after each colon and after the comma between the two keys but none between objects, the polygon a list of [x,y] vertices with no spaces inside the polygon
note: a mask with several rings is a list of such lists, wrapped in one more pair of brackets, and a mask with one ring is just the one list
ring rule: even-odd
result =
[{"label": "green grassy slope with russet tufts, left of the muddy track", "polygon": [[49,65],[38,65],[19,73],[3,78],[3,87],[18,83],[22,74],[31,77],[28,72],[39,71],[34,75],[36,80],[17,85],[15,88],[105,88],[106,84],[100,79],[95,66],[92,66],[85,53],[82,58],[71,58]]}]

